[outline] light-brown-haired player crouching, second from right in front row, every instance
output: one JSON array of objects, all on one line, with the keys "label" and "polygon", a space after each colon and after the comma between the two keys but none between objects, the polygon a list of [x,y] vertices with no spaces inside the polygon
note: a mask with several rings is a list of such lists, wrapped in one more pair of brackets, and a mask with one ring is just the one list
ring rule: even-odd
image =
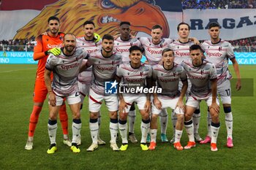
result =
[{"label": "light-brown-haired player crouching, second from right in front row", "polygon": [[[183,98],[187,91],[187,74],[183,67],[174,63],[173,50],[166,48],[162,51],[163,64],[153,66],[153,82],[157,82],[157,87],[162,88],[162,93],[154,93],[154,100],[152,105],[152,118],[151,118],[151,142],[149,150],[154,150],[157,146],[157,117],[162,109],[170,107],[174,110],[176,122],[176,134],[174,147],[177,150],[183,150],[180,139],[182,135],[182,128],[184,124],[184,103]],[[178,90],[178,82],[181,80],[183,83],[181,92]]]}]

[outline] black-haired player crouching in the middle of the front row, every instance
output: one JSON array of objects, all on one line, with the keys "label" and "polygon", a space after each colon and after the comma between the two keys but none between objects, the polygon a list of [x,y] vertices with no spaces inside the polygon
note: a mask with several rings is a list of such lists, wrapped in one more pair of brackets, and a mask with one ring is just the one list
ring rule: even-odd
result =
[{"label": "black-haired player crouching in the middle of the front row", "polygon": [[[121,151],[127,150],[128,140],[127,140],[127,115],[129,109],[133,102],[138,104],[140,109],[140,114],[142,117],[142,122],[140,125],[141,129],[141,140],[140,147],[142,150],[148,150],[146,145],[146,136],[148,134],[148,129],[150,126],[149,119],[149,109],[151,108],[150,94],[141,93],[138,90],[143,90],[146,88],[151,88],[151,66],[140,63],[142,58],[143,50],[138,46],[132,46],[129,48],[129,63],[122,63],[118,66],[116,70],[116,80],[121,82],[123,78],[123,87],[124,93],[118,91],[118,96],[120,100],[119,104],[119,131],[121,134],[122,145],[120,147]],[[130,93],[129,93],[129,92]],[[132,92],[133,91],[133,92]],[[137,91],[137,92],[136,92]]]}]

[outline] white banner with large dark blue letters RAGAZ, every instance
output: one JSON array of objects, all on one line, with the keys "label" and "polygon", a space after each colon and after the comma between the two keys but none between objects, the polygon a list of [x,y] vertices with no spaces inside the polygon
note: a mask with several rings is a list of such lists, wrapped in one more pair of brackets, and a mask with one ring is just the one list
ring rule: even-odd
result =
[{"label": "white banner with large dark blue letters RAGAZ", "polygon": [[208,23],[218,22],[225,40],[256,36],[256,9],[186,9],[184,22],[191,26],[190,36],[209,39]]}]

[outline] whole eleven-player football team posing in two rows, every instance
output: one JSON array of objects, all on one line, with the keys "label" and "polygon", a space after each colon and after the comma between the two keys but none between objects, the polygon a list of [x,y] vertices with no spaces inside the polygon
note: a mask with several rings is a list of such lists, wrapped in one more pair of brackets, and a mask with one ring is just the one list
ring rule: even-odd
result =
[{"label": "whole eleven-player football team posing in two rows", "polygon": [[[101,37],[94,32],[92,21],[83,23],[83,36],[59,32],[59,18],[48,18],[48,31],[37,36],[34,60],[38,61],[34,85],[34,107],[29,120],[29,136],[25,149],[33,149],[34,131],[39,114],[48,96],[48,154],[56,152],[57,117],[61,122],[64,144],[72,152],[80,152],[80,110],[83,100],[89,98],[89,129],[94,151],[105,144],[99,136],[102,101],[110,117],[110,147],[125,151],[128,140],[135,137],[135,104],[142,121],[140,124],[141,150],[157,147],[157,118],[161,125],[161,141],[170,142],[176,150],[191,149],[200,144],[211,144],[217,151],[219,133],[219,100],[222,101],[227,128],[227,147],[233,147],[233,115],[231,112],[232,75],[228,60],[232,61],[237,77],[236,90],[241,89],[238,63],[229,42],[220,39],[218,23],[209,23],[209,40],[200,44],[189,37],[187,23],[177,26],[178,39],[162,38],[162,26],[151,28],[151,37],[132,36],[130,23],[120,23],[120,34]],[[143,55],[146,61],[141,62]],[[143,92],[143,93],[141,93]],[[184,98],[186,102],[184,103]],[[200,101],[208,105],[208,134],[198,134]],[[66,105],[72,112],[72,140],[68,134]],[[86,106],[87,107],[87,106]],[[167,108],[173,110],[173,138],[167,139]],[[127,121],[128,119],[128,121]],[[185,127],[189,142],[182,147],[180,140]],[[116,144],[121,137],[121,147]],[[149,143],[149,145],[148,145]]]}]

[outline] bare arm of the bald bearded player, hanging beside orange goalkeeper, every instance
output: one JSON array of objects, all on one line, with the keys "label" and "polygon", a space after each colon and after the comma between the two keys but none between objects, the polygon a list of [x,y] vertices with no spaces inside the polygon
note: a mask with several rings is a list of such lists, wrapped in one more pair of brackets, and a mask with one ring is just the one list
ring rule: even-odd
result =
[{"label": "bare arm of the bald bearded player, hanging beside orange goalkeeper", "polygon": [[45,69],[45,86],[49,93],[49,102],[52,107],[55,107],[56,106],[56,96],[53,93],[53,89],[51,88],[50,74],[51,74],[51,71],[48,69]]}]

